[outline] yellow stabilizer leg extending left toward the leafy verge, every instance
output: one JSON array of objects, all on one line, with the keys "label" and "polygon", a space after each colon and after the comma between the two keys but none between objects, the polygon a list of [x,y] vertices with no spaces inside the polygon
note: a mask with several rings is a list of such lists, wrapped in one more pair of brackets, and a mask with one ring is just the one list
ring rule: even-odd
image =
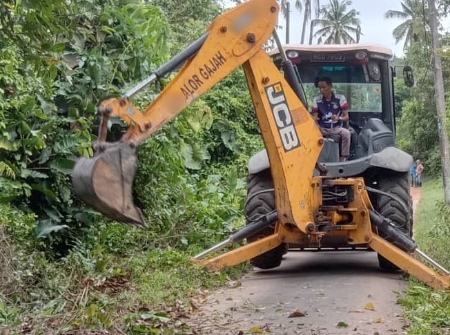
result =
[{"label": "yellow stabilizer leg extending left toward the leafy verge", "polygon": [[248,243],[248,245],[243,245],[237,249],[222,253],[222,255],[214,258],[204,260],[200,259],[198,261],[202,262],[202,264],[208,267],[211,271],[216,271],[224,269],[224,267],[231,267],[251,258],[255,258],[256,256],[259,256],[281,244],[282,240],[280,239],[280,235],[278,233],[274,233],[271,236],[266,236],[261,240]]}]

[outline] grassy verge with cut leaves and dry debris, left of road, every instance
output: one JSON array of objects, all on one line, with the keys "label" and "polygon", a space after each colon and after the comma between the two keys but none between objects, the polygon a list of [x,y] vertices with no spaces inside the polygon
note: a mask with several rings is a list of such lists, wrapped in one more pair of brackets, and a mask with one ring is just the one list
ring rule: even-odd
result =
[{"label": "grassy verge with cut leaves and dry debris, left of road", "polygon": [[247,267],[210,272],[186,251],[97,247],[79,245],[59,262],[28,255],[33,283],[0,291],[0,334],[193,334],[198,301]]}]

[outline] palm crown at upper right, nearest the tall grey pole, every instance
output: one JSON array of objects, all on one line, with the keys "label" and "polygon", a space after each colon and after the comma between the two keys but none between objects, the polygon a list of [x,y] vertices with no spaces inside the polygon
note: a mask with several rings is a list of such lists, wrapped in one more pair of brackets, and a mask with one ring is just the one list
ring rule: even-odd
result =
[{"label": "palm crown at upper right, nearest the tall grey pole", "polygon": [[[427,21],[427,8],[423,0],[404,0],[402,10],[388,10],[384,17],[387,19],[402,19],[392,31],[395,43],[404,39],[403,48],[411,46],[413,42],[419,41],[420,32],[424,30],[424,21]],[[406,38],[405,38],[406,37]]]}]

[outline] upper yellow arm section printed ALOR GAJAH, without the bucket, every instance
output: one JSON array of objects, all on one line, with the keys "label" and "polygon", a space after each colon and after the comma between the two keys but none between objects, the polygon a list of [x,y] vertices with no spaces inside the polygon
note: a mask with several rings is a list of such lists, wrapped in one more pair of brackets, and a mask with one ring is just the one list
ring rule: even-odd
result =
[{"label": "upper yellow arm section printed ALOR GAJAH, without the bucket", "polygon": [[[208,27],[196,54],[144,111],[128,99],[108,99],[99,106],[132,124],[122,141],[136,144],[178,115],[194,99],[244,64],[271,36],[277,20],[276,1],[248,1],[217,17]],[[191,52],[195,52],[195,48]]]}]

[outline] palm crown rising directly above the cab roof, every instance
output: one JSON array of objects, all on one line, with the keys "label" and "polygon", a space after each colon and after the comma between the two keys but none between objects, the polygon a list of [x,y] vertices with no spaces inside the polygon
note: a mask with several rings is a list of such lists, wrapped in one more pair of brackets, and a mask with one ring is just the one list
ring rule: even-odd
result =
[{"label": "palm crown rising directly above the cab roof", "polygon": [[361,21],[360,12],[355,9],[347,11],[352,5],[351,0],[330,0],[320,10],[320,19],[314,20],[312,26],[320,26],[314,37],[318,37],[318,44],[351,44],[360,41]]}]

